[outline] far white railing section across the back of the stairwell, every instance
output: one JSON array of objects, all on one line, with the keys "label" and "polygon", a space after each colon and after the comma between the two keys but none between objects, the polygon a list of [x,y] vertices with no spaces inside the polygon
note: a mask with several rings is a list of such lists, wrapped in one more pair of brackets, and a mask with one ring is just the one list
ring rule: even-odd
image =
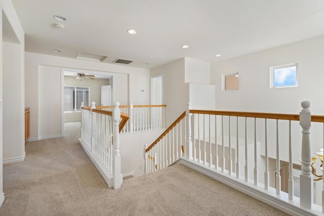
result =
[{"label": "far white railing section across the back of the stairwell", "polygon": [[[121,105],[120,111],[129,115],[128,124],[121,134],[144,132],[165,128],[166,105]],[[99,106],[97,109],[112,110],[113,106]]]}]

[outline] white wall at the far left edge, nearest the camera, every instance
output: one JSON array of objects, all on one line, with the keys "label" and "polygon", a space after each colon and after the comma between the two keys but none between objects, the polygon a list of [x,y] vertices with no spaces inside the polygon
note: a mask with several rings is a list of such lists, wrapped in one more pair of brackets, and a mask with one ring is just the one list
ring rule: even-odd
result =
[{"label": "white wall at the far left edge, nearest the camera", "polygon": [[[17,56],[14,56],[14,58],[16,59],[13,60],[15,61],[20,68],[15,67],[15,69],[17,69],[18,71],[15,71],[14,73],[16,74],[17,77],[17,82],[19,83],[19,87],[17,90],[15,90],[15,93],[17,94],[16,97],[20,98],[20,102],[16,104],[17,108],[19,109],[16,113],[14,113],[16,116],[14,118],[15,120],[15,126],[17,126],[17,128],[13,128],[16,130],[17,134],[15,136],[17,137],[21,137],[24,135],[24,31],[21,27],[21,24],[19,22],[18,16],[16,14],[16,11],[14,9],[14,6],[12,5],[12,2],[10,0],[3,0],[0,2],[0,9],[2,9],[2,16],[0,18],[0,23],[1,23],[1,27],[0,27],[0,38],[3,42],[3,35],[8,35],[7,33],[9,33],[9,35],[11,35],[13,38],[13,41],[16,41],[17,44],[20,44],[20,52],[18,52],[18,49],[15,49],[13,52],[16,52]],[[8,21],[8,23],[4,24],[4,18],[6,20],[6,22]],[[6,28],[4,29],[4,25],[7,27],[9,26],[9,29]],[[6,31],[11,31],[11,32],[6,32]],[[10,38],[9,38],[10,39]],[[4,87],[4,82],[5,80],[3,79],[3,76],[6,76],[6,79],[10,77],[10,75],[8,75],[8,65],[4,65],[4,62],[6,61],[5,58],[7,58],[8,56],[10,56],[10,54],[4,50],[4,47],[6,45],[3,46],[3,43],[0,44],[0,101],[3,101],[3,99],[5,97],[8,97],[8,95],[11,95],[11,92],[6,91],[5,87]],[[17,48],[17,47],[16,47]],[[12,53],[11,53],[12,54]],[[13,56],[12,56],[13,57]],[[11,61],[11,58],[9,58]],[[8,63],[8,62],[6,62]],[[11,80],[10,80],[11,81]],[[17,84],[18,85],[18,84]],[[5,102],[5,101],[3,101]],[[4,147],[4,137],[3,135],[5,135],[3,129],[3,125],[7,125],[8,122],[5,121],[5,119],[3,119],[3,116],[6,115],[10,115],[12,113],[7,113],[6,110],[3,110],[3,103],[0,102],[0,206],[2,205],[5,196],[3,193],[3,159],[7,158],[7,155],[4,154],[3,152],[3,148]],[[8,138],[8,137],[7,137]],[[7,139],[6,138],[6,139]],[[18,142],[20,143],[20,148],[18,148],[17,152],[15,152],[14,154],[21,156],[18,160],[20,159],[24,159],[24,136],[22,140],[18,140]],[[16,143],[15,143],[16,144]],[[19,144],[18,144],[19,145]],[[18,146],[17,145],[17,146]],[[19,157],[18,156],[18,157]]]}]

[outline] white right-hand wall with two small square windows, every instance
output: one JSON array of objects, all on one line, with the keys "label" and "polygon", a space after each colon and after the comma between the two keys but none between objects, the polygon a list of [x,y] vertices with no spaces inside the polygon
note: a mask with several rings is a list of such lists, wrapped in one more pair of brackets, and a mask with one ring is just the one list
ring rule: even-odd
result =
[{"label": "white right-hand wall with two small square windows", "polygon": [[[324,36],[296,42],[250,55],[211,64],[211,83],[216,85],[216,108],[233,111],[256,111],[299,114],[300,103],[311,102],[312,114],[324,114],[322,62]],[[270,89],[270,67],[298,63],[298,87]],[[237,91],[222,91],[222,74],[239,73]],[[258,126],[264,121],[258,119]],[[288,123],[279,123],[280,158],[288,159]],[[275,122],[269,122],[268,130],[275,130]],[[312,124],[312,152],[322,148],[322,126]],[[270,128],[272,127],[272,129]],[[301,127],[293,125],[293,159],[299,163],[301,155]],[[253,132],[253,124],[250,132]],[[321,128],[321,129],[320,129]],[[317,133],[318,132],[318,133]],[[264,143],[264,129],[259,129],[258,140]],[[275,156],[275,134],[269,137],[269,154]],[[261,147],[264,147],[261,145]],[[261,150],[261,153],[263,150]]]}]

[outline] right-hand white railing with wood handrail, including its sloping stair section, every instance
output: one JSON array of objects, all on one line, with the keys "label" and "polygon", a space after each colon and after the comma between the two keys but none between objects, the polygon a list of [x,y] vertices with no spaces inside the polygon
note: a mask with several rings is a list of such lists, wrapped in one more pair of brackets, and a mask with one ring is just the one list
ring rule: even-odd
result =
[{"label": "right-hand white railing with wood handrail, including its sloping stair section", "polygon": [[[298,115],[192,110],[188,103],[165,133],[144,146],[145,173],[178,160],[285,212],[323,215],[323,186],[315,187],[322,199],[313,203],[310,129],[312,124],[312,138],[323,146],[324,116],[311,115],[307,101],[301,105]],[[288,164],[287,175],[282,164]],[[294,194],[296,167],[300,197]]]}]

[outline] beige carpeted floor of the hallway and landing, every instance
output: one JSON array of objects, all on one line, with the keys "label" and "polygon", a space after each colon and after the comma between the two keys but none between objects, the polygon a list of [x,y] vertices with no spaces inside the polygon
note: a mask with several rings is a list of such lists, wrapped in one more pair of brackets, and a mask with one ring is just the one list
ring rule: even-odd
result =
[{"label": "beige carpeted floor of the hallway and landing", "polygon": [[286,215],[180,164],[108,189],[73,125],[64,138],[28,142],[24,162],[4,165],[0,215]]}]

